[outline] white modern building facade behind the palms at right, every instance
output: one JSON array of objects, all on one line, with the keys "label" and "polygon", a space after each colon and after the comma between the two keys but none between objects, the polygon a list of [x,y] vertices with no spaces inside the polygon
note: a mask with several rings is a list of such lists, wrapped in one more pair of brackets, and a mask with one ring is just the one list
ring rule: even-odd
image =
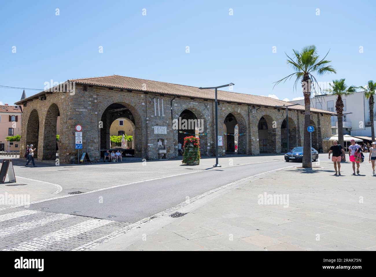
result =
[{"label": "white modern building facade behind the palms at right", "polygon": [[[314,97],[311,98],[311,107],[335,112],[336,100],[337,95],[314,95]],[[304,99],[290,102],[304,105]],[[343,97],[343,104],[343,134],[370,137],[370,107],[368,99],[364,96],[364,92],[356,92],[350,96]],[[376,117],[375,112],[376,107],[374,107],[373,110],[374,119]],[[337,116],[332,116],[331,122],[332,134],[338,134]],[[373,124],[376,126],[375,120]]]}]

